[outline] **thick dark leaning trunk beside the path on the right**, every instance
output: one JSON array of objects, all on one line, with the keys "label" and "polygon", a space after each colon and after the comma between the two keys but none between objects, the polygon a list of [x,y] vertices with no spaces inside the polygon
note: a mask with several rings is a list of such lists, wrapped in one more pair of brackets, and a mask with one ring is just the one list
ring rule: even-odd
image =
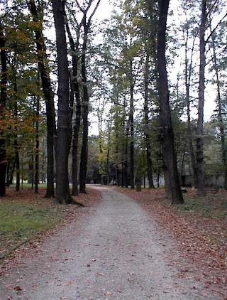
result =
[{"label": "thick dark leaning trunk beside the path on the right", "polygon": [[174,146],[174,132],[172,128],[169,90],[167,82],[166,58],[165,58],[165,33],[167,23],[167,11],[170,0],[160,0],[159,23],[157,31],[157,72],[160,94],[160,125],[162,127],[162,151],[167,176],[169,178],[172,203],[183,203],[182,191],[179,184],[177,171],[177,157]]}]

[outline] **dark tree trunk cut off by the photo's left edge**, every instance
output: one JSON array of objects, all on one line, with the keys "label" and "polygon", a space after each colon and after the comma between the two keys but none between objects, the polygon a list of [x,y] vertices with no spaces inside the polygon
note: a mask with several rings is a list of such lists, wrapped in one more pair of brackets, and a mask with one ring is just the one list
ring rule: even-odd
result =
[{"label": "dark tree trunk cut off by the photo's left edge", "polygon": [[[0,94],[0,117],[4,119],[6,109],[6,85],[7,85],[7,68],[6,68],[6,50],[3,28],[0,23],[0,56],[1,56],[1,94]],[[6,195],[6,151],[5,139],[0,139],[0,196]]]}]

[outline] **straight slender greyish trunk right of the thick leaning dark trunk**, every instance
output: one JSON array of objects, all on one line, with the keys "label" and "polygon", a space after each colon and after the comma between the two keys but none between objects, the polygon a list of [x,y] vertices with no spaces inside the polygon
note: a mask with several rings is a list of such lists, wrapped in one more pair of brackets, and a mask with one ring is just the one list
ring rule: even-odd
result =
[{"label": "straight slender greyish trunk right of the thick leaning dark trunk", "polygon": [[198,195],[205,195],[204,182],[204,90],[205,90],[205,30],[206,30],[206,0],[201,1],[201,23],[199,26],[199,107],[196,130],[196,166]]}]

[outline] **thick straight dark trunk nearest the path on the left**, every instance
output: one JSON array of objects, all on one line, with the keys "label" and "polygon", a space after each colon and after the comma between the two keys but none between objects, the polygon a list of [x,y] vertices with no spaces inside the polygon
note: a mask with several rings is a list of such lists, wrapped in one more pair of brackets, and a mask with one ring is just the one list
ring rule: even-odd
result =
[{"label": "thick straight dark trunk nearest the path on the left", "polygon": [[65,36],[64,13],[61,0],[52,0],[57,41],[58,68],[58,110],[57,110],[57,149],[56,149],[56,198],[55,203],[71,203],[68,176],[68,144],[70,132],[69,109],[69,70],[67,41]]}]

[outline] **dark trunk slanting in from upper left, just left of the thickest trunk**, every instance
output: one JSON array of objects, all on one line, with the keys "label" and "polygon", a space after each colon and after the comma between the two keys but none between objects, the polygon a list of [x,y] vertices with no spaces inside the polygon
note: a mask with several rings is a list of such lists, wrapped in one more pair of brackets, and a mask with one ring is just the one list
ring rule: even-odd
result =
[{"label": "dark trunk slanting in from upper left, just left of the thickest trunk", "polygon": [[[33,16],[33,21],[39,21],[37,8],[35,2],[29,2],[29,8]],[[50,74],[46,68],[47,59],[45,53],[45,41],[41,29],[35,30],[37,56],[38,56],[38,69],[43,86],[43,95],[45,98],[46,114],[47,114],[47,139],[48,139],[48,170],[47,170],[47,191],[45,198],[55,197],[54,188],[54,136],[56,136],[55,126],[55,105],[54,93],[52,92]]]}]

